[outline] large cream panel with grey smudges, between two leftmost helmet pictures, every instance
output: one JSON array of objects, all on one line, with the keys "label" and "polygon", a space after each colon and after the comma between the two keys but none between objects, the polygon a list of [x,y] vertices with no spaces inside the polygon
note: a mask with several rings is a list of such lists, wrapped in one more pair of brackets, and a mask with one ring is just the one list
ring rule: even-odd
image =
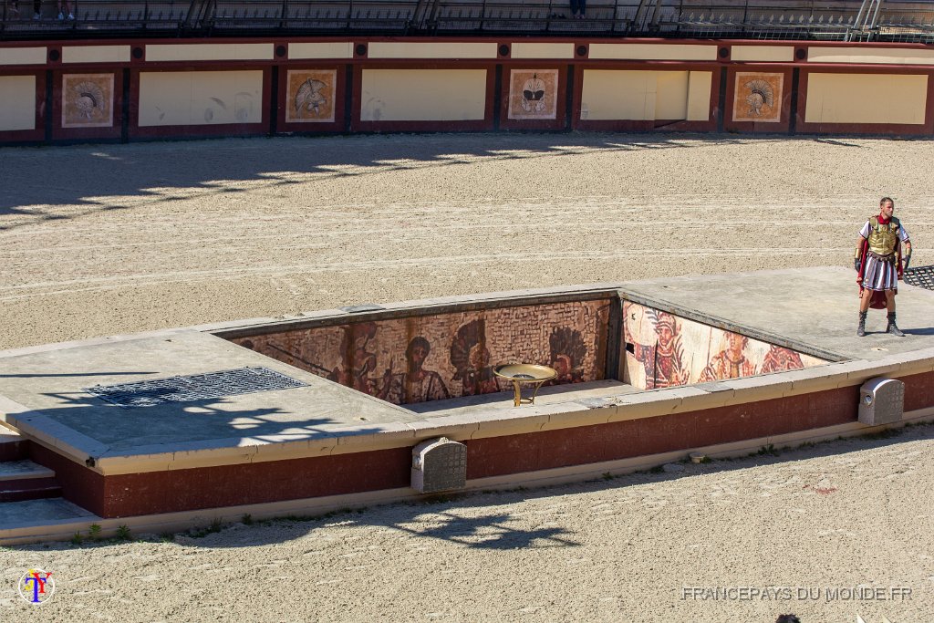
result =
[{"label": "large cream panel with grey smudges, between two leftmost helmet pictures", "polygon": [[214,125],[262,121],[262,71],[143,72],[139,124]]}]

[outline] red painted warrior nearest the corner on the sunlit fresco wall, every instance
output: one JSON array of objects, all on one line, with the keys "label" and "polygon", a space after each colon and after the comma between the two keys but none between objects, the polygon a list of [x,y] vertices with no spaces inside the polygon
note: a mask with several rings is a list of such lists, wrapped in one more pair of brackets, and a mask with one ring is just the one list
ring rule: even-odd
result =
[{"label": "red painted warrior nearest the corner on the sunlit fresco wall", "polygon": [[656,344],[635,342],[626,323],[626,341],[632,345],[632,355],[645,369],[645,389],[673,388],[686,385],[690,370],[685,366],[678,320],[667,312],[649,309],[646,312],[655,327]]}]

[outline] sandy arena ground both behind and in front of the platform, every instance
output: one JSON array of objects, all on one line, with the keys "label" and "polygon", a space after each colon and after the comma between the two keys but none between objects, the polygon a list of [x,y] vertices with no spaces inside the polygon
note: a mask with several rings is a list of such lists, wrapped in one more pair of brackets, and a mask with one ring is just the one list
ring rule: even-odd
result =
[{"label": "sandy arena ground both behind and in front of the platform", "polygon": [[[930,264],[932,162],[931,141],[677,135],[0,149],[0,348],[453,293],[849,265],[883,194],[915,265]],[[853,303],[855,327],[856,292]],[[929,623],[932,438],[925,426],[203,538],[6,549],[0,620],[747,623],[796,612]],[[31,566],[58,579],[40,611],[15,594]],[[855,600],[860,586],[881,592]],[[739,590],[769,587],[768,600]],[[728,594],[712,599],[716,588]]]}]

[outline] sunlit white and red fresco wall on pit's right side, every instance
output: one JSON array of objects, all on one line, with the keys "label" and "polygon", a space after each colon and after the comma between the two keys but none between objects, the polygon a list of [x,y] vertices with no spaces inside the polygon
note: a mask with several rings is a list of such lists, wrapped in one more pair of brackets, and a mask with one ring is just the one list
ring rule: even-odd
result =
[{"label": "sunlit white and red fresco wall on pit's right side", "polygon": [[625,301],[626,380],[660,389],[798,370],[827,361]]}]

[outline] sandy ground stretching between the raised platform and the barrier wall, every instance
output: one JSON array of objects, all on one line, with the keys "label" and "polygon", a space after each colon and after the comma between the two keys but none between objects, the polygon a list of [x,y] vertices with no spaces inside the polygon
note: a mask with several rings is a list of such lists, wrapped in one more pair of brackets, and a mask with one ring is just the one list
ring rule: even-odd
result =
[{"label": "sandy ground stretching between the raised platform and the barrier wall", "polygon": [[[374,135],[0,149],[0,348],[346,304],[849,265],[934,142]],[[15,327],[15,330],[9,330]]]}]

